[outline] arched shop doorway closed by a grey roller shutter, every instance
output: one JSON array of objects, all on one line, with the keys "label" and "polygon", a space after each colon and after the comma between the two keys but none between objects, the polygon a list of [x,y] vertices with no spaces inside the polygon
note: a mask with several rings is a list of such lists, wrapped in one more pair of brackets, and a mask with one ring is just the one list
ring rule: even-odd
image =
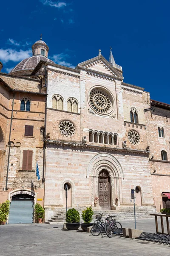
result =
[{"label": "arched shop doorway closed by a grey roller shutter", "polygon": [[8,224],[33,223],[34,194],[28,191],[16,191],[11,194]]}]

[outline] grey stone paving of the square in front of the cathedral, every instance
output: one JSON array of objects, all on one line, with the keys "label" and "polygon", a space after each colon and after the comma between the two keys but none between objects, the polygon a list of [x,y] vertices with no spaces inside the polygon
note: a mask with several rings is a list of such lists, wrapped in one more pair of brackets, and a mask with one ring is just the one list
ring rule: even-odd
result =
[{"label": "grey stone paving of the square in front of the cathedral", "polygon": [[[134,222],[121,221],[123,227]],[[154,220],[137,220],[137,227],[154,232]],[[149,228],[150,227],[150,228]],[[169,256],[170,247],[122,237],[94,237],[62,230],[60,225],[11,224],[0,226],[0,256]]]}]

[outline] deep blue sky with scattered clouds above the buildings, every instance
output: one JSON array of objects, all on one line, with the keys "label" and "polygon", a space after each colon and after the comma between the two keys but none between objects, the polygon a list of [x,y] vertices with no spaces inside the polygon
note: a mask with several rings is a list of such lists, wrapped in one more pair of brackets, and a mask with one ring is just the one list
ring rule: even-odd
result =
[{"label": "deep blue sky with scattered clouds above the buildings", "polygon": [[75,67],[110,46],[124,82],[170,104],[169,0],[1,1],[0,61],[8,72],[42,33],[56,63]]}]

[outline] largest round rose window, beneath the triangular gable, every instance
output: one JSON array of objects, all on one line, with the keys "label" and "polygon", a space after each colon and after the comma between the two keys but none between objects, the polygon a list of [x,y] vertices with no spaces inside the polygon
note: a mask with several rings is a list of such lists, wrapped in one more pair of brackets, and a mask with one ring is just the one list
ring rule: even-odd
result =
[{"label": "largest round rose window, beneath the triangular gable", "polygon": [[111,98],[104,90],[94,89],[90,93],[90,104],[99,114],[107,114],[112,110]]}]

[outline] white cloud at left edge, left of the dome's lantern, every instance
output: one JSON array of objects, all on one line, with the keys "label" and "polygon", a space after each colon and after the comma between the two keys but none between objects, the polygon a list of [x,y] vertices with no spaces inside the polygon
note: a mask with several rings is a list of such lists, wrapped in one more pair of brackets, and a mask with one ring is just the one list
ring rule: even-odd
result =
[{"label": "white cloud at left edge, left of the dome's lantern", "polygon": [[32,55],[31,50],[15,50],[15,49],[0,49],[0,59],[2,62],[6,63],[8,61],[22,61]]}]

